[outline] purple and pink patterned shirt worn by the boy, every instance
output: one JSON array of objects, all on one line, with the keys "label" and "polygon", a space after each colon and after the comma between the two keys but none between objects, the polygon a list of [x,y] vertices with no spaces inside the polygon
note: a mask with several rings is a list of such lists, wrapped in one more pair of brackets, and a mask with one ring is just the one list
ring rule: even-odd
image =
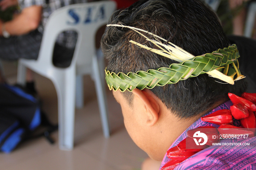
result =
[{"label": "purple and pink patterned shirt worn by the boy", "polygon": [[[230,106],[233,105],[231,101],[227,101],[217,108],[213,109],[211,112],[207,113],[209,115],[215,111],[221,109],[230,109]],[[198,119],[193,123],[187,130],[185,130],[170,146],[170,148],[176,146],[183,139],[187,137],[187,131],[197,128],[199,126],[211,125],[216,128],[219,125],[208,123]],[[234,120],[233,125],[239,126],[240,122],[236,119]],[[240,143],[250,143],[249,146],[210,146],[202,151],[197,152],[193,156],[189,157],[185,161],[181,162],[174,170],[194,170],[194,169],[204,169],[204,170],[256,170],[256,137],[248,139],[224,139],[221,142],[230,143],[230,142],[240,142]],[[170,149],[169,148],[169,149]],[[163,161],[159,170],[162,166],[165,165],[170,158],[165,154]]]}]

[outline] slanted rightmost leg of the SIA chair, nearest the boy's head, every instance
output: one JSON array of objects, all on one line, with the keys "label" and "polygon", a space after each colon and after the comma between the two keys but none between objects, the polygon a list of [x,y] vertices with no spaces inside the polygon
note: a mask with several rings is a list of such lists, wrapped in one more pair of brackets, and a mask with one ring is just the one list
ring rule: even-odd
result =
[{"label": "slanted rightmost leg of the SIA chair, nearest the boy's head", "polygon": [[110,131],[108,121],[108,106],[106,102],[106,89],[103,86],[104,82],[102,82],[101,80],[101,74],[99,70],[100,69],[98,65],[98,60],[96,57],[93,57],[93,71],[95,78],[96,93],[98,98],[99,112],[101,114],[102,129],[105,138],[109,138]]}]

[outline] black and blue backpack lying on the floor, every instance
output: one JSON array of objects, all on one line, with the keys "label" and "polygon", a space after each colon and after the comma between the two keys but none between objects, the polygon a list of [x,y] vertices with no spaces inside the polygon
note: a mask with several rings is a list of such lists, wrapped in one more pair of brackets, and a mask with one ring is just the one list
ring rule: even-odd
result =
[{"label": "black and blue backpack lying on the floor", "polygon": [[37,98],[25,89],[8,84],[0,84],[0,151],[8,153],[23,140],[35,137],[31,134],[40,126],[47,126],[42,134],[51,143],[50,132],[57,129],[41,111]]}]

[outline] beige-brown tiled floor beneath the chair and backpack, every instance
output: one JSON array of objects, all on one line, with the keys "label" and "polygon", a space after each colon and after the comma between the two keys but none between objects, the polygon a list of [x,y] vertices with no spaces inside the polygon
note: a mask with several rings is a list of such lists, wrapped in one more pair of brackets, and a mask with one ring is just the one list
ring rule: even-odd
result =
[{"label": "beige-brown tiled floor beneath the chair and backpack", "polygon": [[[5,74],[16,82],[16,63],[3,62]],[[43,109],[53,123],[57,123],[57,96],[52,82],[35,74],[36,87]],[[139,170],[147,154],[140,150],[124,124],[121,108],[108,90],[111,136],[105,139],[93,81],[84,76],[84,107],[76,109],[75,147],[62,151],[58,147],[58,132],[51,145],[44,137],[21,143],[10,154],[0,153],[0,170]],[[111,106],[111,107],[110,107]]]}]

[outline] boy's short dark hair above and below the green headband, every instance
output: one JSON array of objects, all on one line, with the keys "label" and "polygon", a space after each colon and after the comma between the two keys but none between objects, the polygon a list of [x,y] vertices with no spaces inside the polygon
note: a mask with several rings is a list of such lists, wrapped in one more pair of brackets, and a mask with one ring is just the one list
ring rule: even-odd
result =
[{"label": "boy's short dark hair above and below the green headband", "polygon": [[[109,24],[123,24],[153,32],[195,56],[230,45],[215,13],[199,0],[141,0],[114,12]],[[139,48],[129,40],[157,48],[129,28],[108,27],[101,46],[110,72],[147,71],[176,62]],[[151,91],[170,111],[187,118],[208,111],[223,98],[227,100],[229,92],[241,95],[246,89],[244,80],[236,81],[234,85],[216,81],[221,80],[201,74],[177,84],[156,86]],[[129,98],[126,93],[125,97]]]}]

